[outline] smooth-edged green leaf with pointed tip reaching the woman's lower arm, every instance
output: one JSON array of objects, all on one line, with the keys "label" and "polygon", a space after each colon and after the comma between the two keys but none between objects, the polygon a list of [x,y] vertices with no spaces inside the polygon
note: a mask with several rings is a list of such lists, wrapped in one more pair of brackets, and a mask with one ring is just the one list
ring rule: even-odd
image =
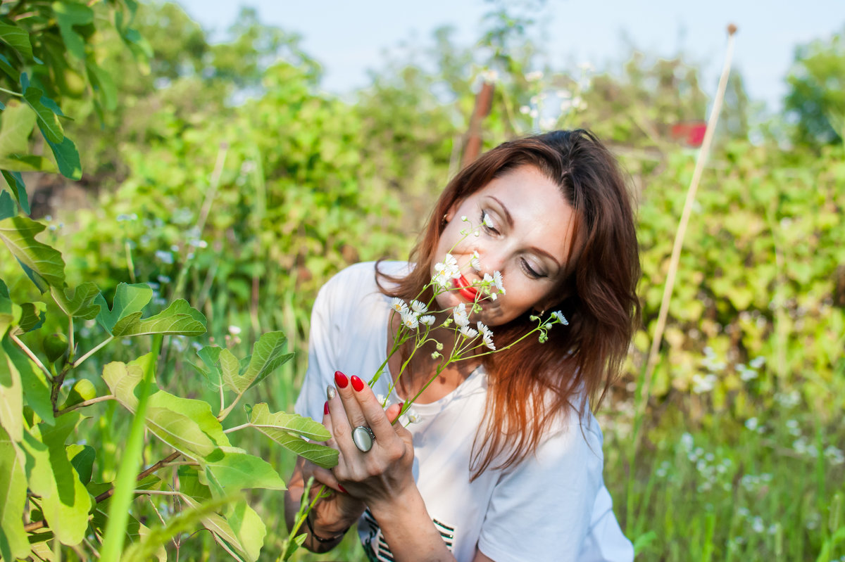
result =
[{"label": "smooth-edged green leaf with pointed tip reaching the woman's lower arm", "polygon": [[237,447],[218,449],[199,464],[213,474],[215,484],[225,492],[248,488],[286,489],[269,462]]}]

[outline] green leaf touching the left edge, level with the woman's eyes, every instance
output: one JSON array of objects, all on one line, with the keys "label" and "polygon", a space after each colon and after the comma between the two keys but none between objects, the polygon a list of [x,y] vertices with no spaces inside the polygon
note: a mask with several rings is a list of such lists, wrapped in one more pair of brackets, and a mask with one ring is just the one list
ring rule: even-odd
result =
[{"label": "green leaf touching the left edge, level with the woman's eyes", "polygon": [[44,225],[27,217],[0,220],[0,240],[17,258],[35,286],[45,293],[51,286],[64,284],[64,261],[54,248],[35,240]]}]

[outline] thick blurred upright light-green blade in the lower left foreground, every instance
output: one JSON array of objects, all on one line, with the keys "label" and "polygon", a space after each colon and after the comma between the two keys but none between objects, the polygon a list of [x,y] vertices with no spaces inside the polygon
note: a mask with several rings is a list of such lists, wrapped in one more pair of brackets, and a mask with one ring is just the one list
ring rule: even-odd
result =
[{"label": "thick blurred upright light-green blade in the lower left foreground", "polygon": [[146,409],[150,398],[155,363],[161,354],[161,334],[153,338],[153,351],[147,359],[144,369],[144,379],[140,382],[138,407],[132,419],[132,426],[126,441],[126,449],[117,470],[114,487],[114,497],[109,505],[108,525],[101,548],[103,562],[117,562],[123,551],[123,540],[126,537],[126,524],[129,519],[129,505],[132,503],[135,473],[141,462],[141,449],[144,446],[144,429],[146,427]]}]

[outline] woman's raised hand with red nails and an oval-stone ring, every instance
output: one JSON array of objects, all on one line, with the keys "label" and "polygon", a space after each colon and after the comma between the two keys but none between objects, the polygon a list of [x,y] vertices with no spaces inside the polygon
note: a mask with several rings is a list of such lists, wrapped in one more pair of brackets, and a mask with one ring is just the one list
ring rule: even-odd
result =
[{"label": "woman's raised hand with red nails and an oval-stone ring", "polygon": [[[393,404],[385,411],[357,376],[337,371],[335,385],[337,393],[328,403],[326,427],[334,435],[332,446],[340,451],[340,457],[331,472],[343,489],[366,502],[372,511],[401,502],[403,494],[416,490],[411,432],[401,424],[391,424],[401,405]],[[359,425],[369,427],[375,435],[373,448],[367,452],[360,451],[352,440],[352,430]]]}]

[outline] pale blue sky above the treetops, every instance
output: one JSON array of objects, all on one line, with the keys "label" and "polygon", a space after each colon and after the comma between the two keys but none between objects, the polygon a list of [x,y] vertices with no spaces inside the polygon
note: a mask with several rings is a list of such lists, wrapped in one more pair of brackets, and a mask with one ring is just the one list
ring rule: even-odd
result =
[{"label": "pale blue sky above the treetops", "polygon": [[[484,0],[178,0],[212,37],[222,34],[241,5],[256,8],[264,24],[303,36],[303,50],[324,69],[322,87],[344,95],[368,85],[384,51],[405,41],[430,44],[432,31],[455,27],[455,39],[472,46],[482,35]],[[785,95],[796,45],[845,32],[845,0],[547,0],[532,30],[552,68],[589,62],[619,68],[632,46],[652,57],[674,57],[701,68],[702,88],[716,90],[727,46],[727,26],[739,27],[733,68],[752,100],[777,111]]]}]

